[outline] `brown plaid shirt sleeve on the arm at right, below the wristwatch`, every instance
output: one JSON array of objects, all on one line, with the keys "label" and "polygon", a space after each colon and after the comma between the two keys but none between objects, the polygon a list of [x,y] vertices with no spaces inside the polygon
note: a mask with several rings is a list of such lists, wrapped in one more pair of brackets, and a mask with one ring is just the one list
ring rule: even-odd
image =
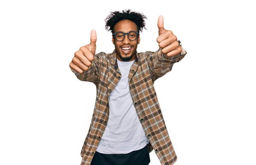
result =
[{"label": "brown plaid shirt sleeve on the arm at right, below the wristwatch", "polygon": [[163,54],[161,50],[159,48],[156,52],[149,54],[148,64],[153,81],[170,72],[173,64],[182,60],[187,53],[185,49],[181,48],[180,54],[169,57]]}]

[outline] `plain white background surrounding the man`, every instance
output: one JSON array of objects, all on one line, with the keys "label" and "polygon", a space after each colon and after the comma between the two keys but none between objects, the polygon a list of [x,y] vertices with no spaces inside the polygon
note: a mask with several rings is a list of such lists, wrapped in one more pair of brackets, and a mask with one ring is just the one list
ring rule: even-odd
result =
[{"label": "plain white background surrounding the man", "polygon": [[[175,165],[256,165],[256,12],[248,0],[1,1],[0,164],[81,163],[96,87],[69,63],[92,29],[96,53],[112,52],[104,19],[123,9],[148,17],[138,52],[158,49],[159,15],[188,52],[154,84]],[[160,165],[154,151],[150,158]]]}]

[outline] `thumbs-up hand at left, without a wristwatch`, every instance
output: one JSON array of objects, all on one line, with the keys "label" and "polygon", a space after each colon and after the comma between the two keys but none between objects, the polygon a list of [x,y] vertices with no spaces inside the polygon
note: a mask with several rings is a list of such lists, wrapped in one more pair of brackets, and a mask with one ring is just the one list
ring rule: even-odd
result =
[{"label": "thumbs-up hand at left, without a wristwatch", "polygon": [[91,66],[96,51],[96,31],[91,31],[90,44],[82,46],[70,62],[70,68],[76,72],[83,73]]}]

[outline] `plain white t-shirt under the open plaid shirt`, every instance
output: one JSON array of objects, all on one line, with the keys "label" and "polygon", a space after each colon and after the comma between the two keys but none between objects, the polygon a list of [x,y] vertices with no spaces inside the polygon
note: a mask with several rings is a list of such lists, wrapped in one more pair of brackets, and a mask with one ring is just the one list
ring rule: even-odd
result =
[{"label": "plain white t-shirt under the open plaid shirt", "polygon": [[109,96],[109,119],[96,149],[99,153],[130,153],[149,143],[131,99],[128,83],[129,71],[135,60],[116,60],[122,76]]}]

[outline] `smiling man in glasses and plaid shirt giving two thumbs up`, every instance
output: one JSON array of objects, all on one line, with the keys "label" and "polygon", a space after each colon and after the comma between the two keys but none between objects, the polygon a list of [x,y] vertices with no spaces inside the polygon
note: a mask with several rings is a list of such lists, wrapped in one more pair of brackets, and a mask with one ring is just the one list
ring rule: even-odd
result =
[{"label": "smiling man in glasses and plaid shirt giving two thumbs up", "polygon": [[81,81],[96,85],[96,104],[81,151],[81,165],[148,165],[154,149],[162,165],[177,156],[169,138],[154,90],[154,81],[171,71],[186,51],[158,18],[159,49],[137,52],[145,15],[130,10],[111,12],[106,29],[112,32],[115,50],[96,51],[96,32],[70,63]]}]

